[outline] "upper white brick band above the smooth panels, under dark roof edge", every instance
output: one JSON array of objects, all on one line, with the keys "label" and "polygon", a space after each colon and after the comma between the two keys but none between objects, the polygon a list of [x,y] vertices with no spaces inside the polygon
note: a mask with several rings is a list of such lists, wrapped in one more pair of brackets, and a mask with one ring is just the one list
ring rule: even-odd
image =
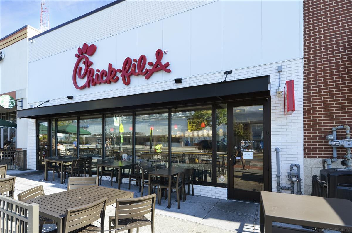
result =
[{"label": "upper white brick band above the smooth panels, under dark roof edge", "polygon": [[[170,15],[209,4],[210,2],[214,2],[214,0],[123,1],[89,17],[77,20],[35,38],[34,43],[30,46],[29,62],[81,46],[82,38],[86,39],[85,43],[91,43],[95,40],[109,37]],[[54,38],[61,38],[62,34],[70,36],[64,37],[65,39],[53,45],[52,41],[56,41]]]}]

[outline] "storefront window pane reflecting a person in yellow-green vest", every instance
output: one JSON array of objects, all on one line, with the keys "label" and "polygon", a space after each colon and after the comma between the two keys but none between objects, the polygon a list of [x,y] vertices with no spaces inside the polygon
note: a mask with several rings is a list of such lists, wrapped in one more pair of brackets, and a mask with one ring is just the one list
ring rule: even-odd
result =
[{"label": "storefront window pane reflecting a person in yellow-green vest", "polygon": [[136,113],[136,161],[169,161],[169,113],[155,110]]}]

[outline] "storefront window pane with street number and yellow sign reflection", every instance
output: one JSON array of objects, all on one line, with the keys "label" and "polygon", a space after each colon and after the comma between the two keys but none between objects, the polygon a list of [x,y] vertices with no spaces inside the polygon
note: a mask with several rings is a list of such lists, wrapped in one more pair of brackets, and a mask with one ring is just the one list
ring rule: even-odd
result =
[{"label": "storefront window pane with street number and yellow sign reflection", "polygon": [[105,116],[105,158],[132,160],[132,114]]}]

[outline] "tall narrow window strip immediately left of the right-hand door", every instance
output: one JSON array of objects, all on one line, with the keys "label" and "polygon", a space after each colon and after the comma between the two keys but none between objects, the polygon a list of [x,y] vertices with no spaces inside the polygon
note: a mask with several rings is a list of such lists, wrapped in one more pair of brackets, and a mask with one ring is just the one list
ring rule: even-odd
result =
[{"label": "tall narrow window strip immediately left of the right-hand door", "polygon": [[227,104],[216,105],[216,183],[227,184]]}]

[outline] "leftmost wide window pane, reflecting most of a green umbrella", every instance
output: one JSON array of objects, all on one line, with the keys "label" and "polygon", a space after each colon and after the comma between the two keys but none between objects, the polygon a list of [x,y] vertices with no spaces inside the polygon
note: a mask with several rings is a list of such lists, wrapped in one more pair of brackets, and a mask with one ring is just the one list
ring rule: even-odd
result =
[{"label": "leftmost wide window pane, reflecting most of a green umbrella", "polygon": [[57,155],[77,156],[74,141],[77,139],[77,118],[60,118],[57,120]]}]

